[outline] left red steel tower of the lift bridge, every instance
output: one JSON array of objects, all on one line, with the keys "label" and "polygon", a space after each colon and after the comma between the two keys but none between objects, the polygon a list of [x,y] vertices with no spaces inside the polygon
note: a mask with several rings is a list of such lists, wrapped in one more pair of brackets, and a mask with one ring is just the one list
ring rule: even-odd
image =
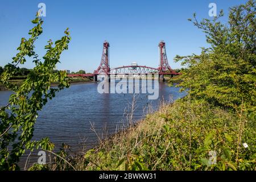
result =
[{"label": "left red steel tower of the lift bridge", "polygon": [[109,67],[109,42],[105,40],[103,43],[103,52],[101,57],[101,63],[99,67],[93,72],[93,80],[97,81],[97,75],[110,75],[110,67]]}]

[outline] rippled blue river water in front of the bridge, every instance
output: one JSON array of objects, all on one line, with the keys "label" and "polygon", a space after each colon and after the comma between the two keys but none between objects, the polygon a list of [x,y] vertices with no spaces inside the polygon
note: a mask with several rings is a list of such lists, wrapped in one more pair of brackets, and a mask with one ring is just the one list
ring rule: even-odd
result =
[{"label": "rippled blue river water in front of the bridge", "polygon": [[[49,137],[55,143],[56,150],[62,143],[67,143],[74,151],[79,151],[81,146],[90,148],[98,141],[92,125],[100,138],[115,133],[126,125],[133,98],[136,108],[133,113],[135,122],[148,112],[158,109],[161,101],[172,102],[186,94],[179,92],[179,88],[159,82],[158,99],[148,100],[148,93],[100,94],[97,91],[98,84],[89,82],[71,85],[57,93],[39,111],[33,139]],[[7,104],[10,94],[10,91],[0,91],[0,106]],[[28,152],[20,160],[21,167],[24,166],[27,155]],[[34,158],[38,156],[34,155]]]}]

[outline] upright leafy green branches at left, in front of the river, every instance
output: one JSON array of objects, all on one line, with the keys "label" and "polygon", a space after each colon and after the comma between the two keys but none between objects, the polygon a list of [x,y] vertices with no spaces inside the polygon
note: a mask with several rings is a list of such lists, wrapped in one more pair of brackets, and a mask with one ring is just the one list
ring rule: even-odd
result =
[{"label": "upright leafy green branches at left, in front of the river", "polygon": [[[47,49],[46,55],[43,56],[44,61],[41,61],[34,51],[34,43],[43,32],[43,20],[37,15],[32,23],[35,27],[28,33],[30,38],[21,39],[19,52],[13,57],[12,63],[6,65],[0,79],[0,84],[14,92],[9,98],[9,104],[0,108],[0,170],[19,169],[17,163],[26,150],[33,151],[34,148],[53,150],[54,144],[48,138],[31,140],[34,124],[38,111],[42,110],[43,105],[55,97],[56,92],[69,86],[64,71],[53,73],[56,64],[60,62],[61,52],[68,49],[71,40],[68,28],[65,30],[65,36],[54,44],[52,40],[48,41],[47,46],[44,47]],[[10,78],[18,71],[18,65],[26,62],[26,57],[33,59],[35,67],[18,87],[10,81]],[[50,88],[52,82],[58,82],[59,85]]]}]

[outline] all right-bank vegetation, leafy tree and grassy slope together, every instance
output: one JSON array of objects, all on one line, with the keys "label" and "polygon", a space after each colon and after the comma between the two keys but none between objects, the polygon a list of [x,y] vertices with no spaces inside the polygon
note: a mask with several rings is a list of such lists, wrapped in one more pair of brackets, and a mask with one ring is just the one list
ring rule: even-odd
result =
[{"label": "all right-bank vegetation, leafy tree and grassy slope together", "polygon": [[[256,170],[255,1],[232,7],[228,24],[194,18],[209,48],[200,55],[176,56],[187,65],[175,77],[188,96],[163,105],[76,159],[85,170]],[[132,115],[132,113],[131,113]],[[64,162],[65,163],[65,162]],[[55,163],[59,164],[59,162]]]}]

